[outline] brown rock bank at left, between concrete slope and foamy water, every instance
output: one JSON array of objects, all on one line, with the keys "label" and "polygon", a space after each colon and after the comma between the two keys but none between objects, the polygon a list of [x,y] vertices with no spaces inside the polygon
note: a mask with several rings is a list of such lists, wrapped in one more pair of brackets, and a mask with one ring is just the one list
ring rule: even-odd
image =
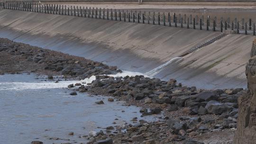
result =
[{"label": "brown rock bank at left, between concrete slope and foamy water", "polygon": [[[116,66],[87,60],[69,54],[39,48],[36,46],[16,43],[1,38],[0,52],[14,54],[20,61],[37,63],[35,71],[42,70],[62,74],[67,78],[85,79],[92,75],[115,74],[122,72]],[[49,78],[53,78],[52,75]]]}]

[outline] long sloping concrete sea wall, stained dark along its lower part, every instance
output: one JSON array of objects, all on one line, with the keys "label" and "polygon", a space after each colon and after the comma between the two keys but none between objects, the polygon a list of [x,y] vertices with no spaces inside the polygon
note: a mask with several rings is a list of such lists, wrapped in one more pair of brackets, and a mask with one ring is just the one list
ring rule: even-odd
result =
[{"label": "long sloping concrete sea wall, stained dark along its lower part", "polygon": [[[0,37],[148,72],[219,32],[2,9]],[[228,35],[170,63],[155,77],[199,88],[246,87],[255,36]]]}]

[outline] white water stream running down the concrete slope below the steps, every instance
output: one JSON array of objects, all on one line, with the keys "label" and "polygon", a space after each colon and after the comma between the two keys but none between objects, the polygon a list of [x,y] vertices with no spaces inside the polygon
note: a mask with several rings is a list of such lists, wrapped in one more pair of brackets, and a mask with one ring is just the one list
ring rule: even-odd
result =
[{"label": "white water stream running down the concrete slope below the steps", "polygon": [[149,71],[149,72],[146,72],[145,75],[149,76],[149,77],[153,77],[155,76],[158,72],[161,72],[165,67],[167,67],[169,64],[171,63],[177,63],[179,61],[183,60],[182,57],[174,57],[172,58],[170,61],[156,67],[155,69]]}]

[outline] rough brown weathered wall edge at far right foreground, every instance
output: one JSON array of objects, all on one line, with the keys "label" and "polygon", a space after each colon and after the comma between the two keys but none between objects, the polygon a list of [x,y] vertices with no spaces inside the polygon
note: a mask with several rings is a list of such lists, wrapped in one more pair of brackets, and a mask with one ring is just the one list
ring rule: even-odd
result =
[{"label": "rough brown weathered wall edge at far right foreground", "polygon": [[247,94],[238,99],[238,129],[234,144],[256,143],[256,40],[252,46],[252,58],[246,67],[248,80]]}]

